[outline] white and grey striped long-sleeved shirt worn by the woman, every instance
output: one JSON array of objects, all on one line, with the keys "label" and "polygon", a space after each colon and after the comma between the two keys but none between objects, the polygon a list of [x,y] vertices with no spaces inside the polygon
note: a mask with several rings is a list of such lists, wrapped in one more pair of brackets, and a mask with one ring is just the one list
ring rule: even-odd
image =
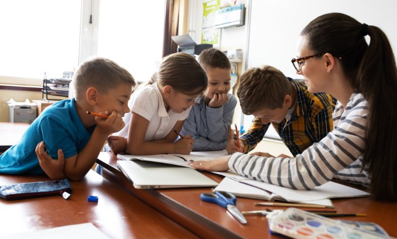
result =
[{"label": "white and grey striped long-sleeved shirt worn by the woman", "polygon": [[334,130],[296,158],[266,158],[235,153],[229,168],[243,176],[293,189],[308,190],[332,178],[363,185],[370,183],[368,168],[361,170],[365,147],[367,102],[352,94],[346,108],[337,103]]}]

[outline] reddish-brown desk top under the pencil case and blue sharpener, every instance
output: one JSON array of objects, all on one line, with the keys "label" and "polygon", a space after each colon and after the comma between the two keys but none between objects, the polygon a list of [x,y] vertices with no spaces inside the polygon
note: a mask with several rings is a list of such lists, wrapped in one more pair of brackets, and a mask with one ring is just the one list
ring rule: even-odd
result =
[{"label": "reddish-brown desk top under the pencil case and blue sharpener", "polygon": [[[48,181],[45,176],[0,174],[0,185]],[[110,238],[194,238],[150,206],[90,170],[71,182],[72,194],[6,201],[0,198],[2,236],[80,223],[93,223]],[[98,202],[88,202],[89,195]]]}]

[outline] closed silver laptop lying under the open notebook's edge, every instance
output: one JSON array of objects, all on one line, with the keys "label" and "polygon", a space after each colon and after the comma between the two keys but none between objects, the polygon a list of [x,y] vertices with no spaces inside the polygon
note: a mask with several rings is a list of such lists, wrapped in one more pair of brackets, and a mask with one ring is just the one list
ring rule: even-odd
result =
[{"label": "closed silver laptop lying under the open notebook's edge", "polygon": [[192,168],[146,161],[117,161],[135,188],[214,187],[218,183]]}]

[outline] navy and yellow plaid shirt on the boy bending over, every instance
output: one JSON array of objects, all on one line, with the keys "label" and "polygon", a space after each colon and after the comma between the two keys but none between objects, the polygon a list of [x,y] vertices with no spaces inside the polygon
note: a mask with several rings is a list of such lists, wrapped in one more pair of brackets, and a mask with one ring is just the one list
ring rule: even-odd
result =
[{"label": "navy and yellow plaid shirt on the boy bending over", "polygon": [[[296,89],[296,109],[288,120],[271,124],[293,156],[296,156],[332,130],[332,112],[336,100],[325,93],[310,93],[301,80],[288,80]],[[260,118],[254,118],[247,133],[240,137],[245,144],[243,153],[257,146],[269,126],[270,123],[264,125]]]}]

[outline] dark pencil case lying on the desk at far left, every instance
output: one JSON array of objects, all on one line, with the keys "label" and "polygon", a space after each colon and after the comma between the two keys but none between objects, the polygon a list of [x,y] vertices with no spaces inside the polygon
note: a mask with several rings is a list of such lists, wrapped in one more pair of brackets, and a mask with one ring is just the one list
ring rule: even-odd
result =
[{"label": "dark pencil case lying on the desk at far left", "polygon": [[0,186],[0,197],[6,200],[62,195],[64,192],[72,192],[67,179]]}]

